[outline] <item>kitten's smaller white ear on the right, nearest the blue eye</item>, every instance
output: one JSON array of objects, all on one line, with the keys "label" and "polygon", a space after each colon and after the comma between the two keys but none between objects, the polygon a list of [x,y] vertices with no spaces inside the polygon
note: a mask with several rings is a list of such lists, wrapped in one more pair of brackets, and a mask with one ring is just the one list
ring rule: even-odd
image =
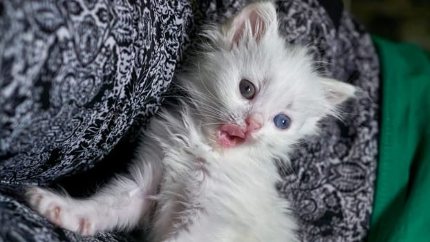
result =
[{"label": "kitten's smaller white ear on the right, nearest the blue eye", "polygon": [[355,92],[357,91],[353,85],[339,82],[334,79],[323,78],[321,82],[324,89],[324,96],[326,97],[328,104],[333,107],[341,104],[351,97],[354,97]]}]

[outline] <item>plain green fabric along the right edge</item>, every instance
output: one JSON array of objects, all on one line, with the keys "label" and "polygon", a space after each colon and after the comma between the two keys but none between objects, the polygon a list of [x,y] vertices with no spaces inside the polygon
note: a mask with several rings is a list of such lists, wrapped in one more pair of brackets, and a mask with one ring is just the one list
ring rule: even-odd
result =
[{"label": "plain green fabric along the right edge", "polygon": [[430,55],[373,37],[382,118],[371,242],[430,241]]}]

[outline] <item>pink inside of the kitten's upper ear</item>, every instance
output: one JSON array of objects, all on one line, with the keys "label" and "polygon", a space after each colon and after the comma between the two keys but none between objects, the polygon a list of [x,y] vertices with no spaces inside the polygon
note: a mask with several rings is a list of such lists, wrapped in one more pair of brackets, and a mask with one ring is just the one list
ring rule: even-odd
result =
[{"label": "pink inside of the kitten's upper ear", "polygon": [[246,21],[250,21],[251,34],[256,41],[259,41],[264,35],[265,22],[263,18],[256,10],[250,10],[249,12],[243,13],[234,19],[233,26],[236,28],[236,30],[234,32],[233,42],[236,45],[239,44],[239,41],[245,35],[245,31],[249,31],[245,28]]}]

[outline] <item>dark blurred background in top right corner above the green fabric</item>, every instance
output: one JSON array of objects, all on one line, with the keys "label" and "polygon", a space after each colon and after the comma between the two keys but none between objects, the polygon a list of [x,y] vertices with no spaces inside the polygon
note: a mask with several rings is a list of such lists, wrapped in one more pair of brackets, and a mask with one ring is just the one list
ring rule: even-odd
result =
[{"label": "dark blurred background in top right corner above the green fabric", "polygon": [[430,0],[344,0],[368,32],[430,50]]}]

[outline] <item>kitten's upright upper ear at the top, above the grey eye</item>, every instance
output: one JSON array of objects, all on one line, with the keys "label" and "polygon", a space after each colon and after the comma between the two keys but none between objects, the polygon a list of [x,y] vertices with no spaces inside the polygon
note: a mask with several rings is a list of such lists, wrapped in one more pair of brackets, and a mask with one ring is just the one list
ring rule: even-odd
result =
[{"label": "kitten's upright upper ear at the top, above the grey eye", "polygon": [[231,46],[242,42],[260,41],[264,35],[277,31],[277,12],[270,1],[252,3],[243,8],[228,26]]}]

